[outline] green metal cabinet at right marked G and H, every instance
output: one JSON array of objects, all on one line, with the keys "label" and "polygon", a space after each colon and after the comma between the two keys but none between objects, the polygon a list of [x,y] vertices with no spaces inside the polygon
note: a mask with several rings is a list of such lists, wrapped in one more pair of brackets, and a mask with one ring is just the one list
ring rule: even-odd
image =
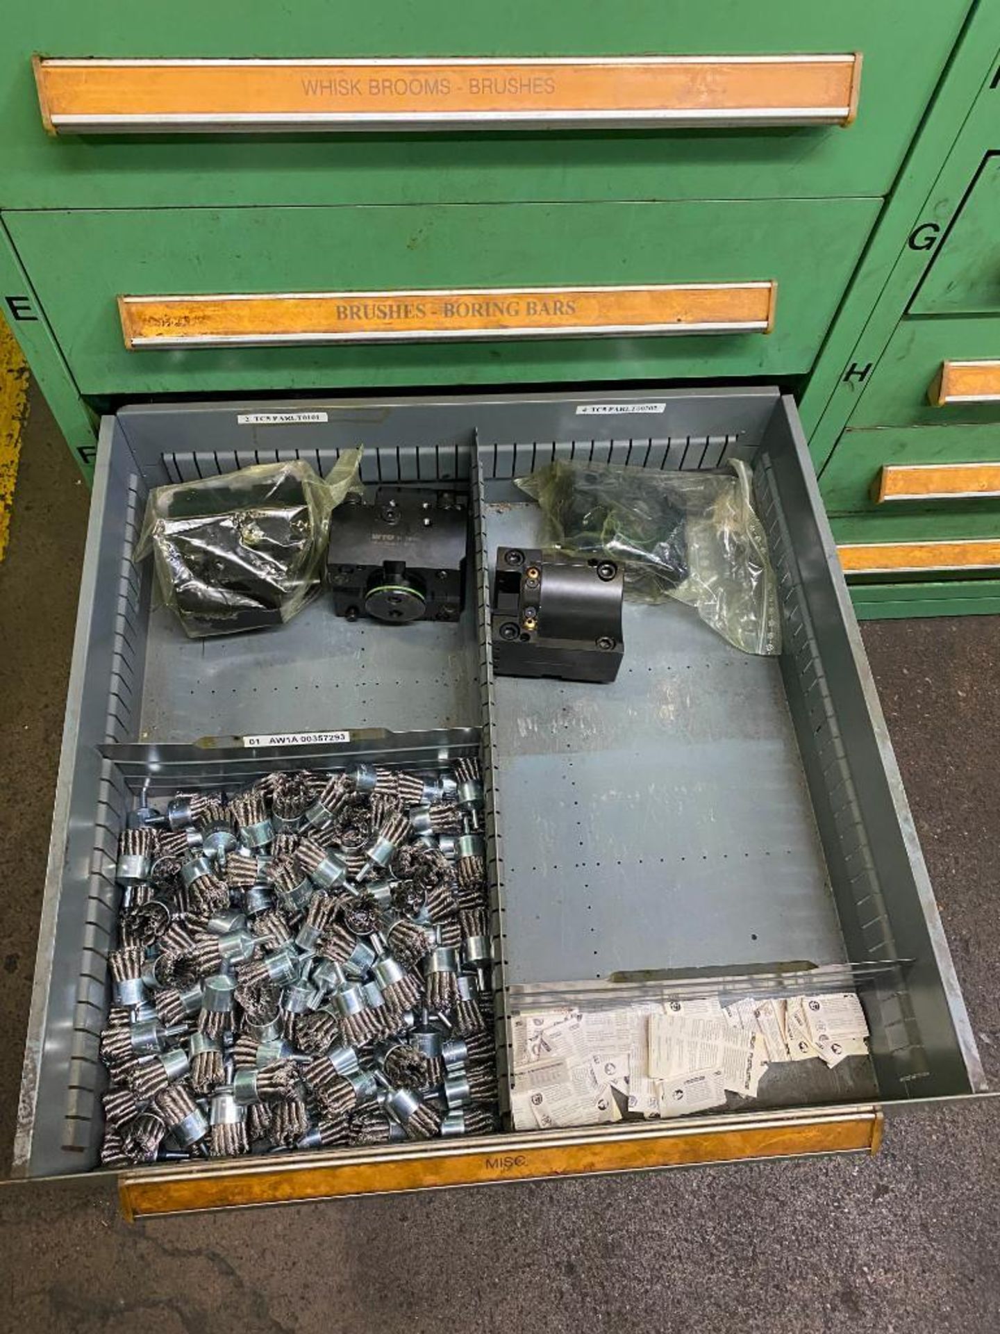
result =
[{"label": "green metal cabinet at right marked G and H", "polygon": [[[860,615],[1000,611],[999,219],[1000,11],[980,5],[803,400]],[[941,394],[965,363],[975,396]]]}]

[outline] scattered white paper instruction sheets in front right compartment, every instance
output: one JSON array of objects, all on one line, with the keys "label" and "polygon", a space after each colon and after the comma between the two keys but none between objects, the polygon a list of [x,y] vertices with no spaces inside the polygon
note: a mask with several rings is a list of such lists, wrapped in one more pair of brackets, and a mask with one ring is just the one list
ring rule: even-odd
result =
[{"label": "scattered white paper instruction sheets in front right compartment", "polygon": [[759,1000],[699,996],[611,1009],[525,1010],[512,1021],[517,1130],[684,1117],[756,1098],[768,1066],[836,1066],[868,1051],[853,991]]}]

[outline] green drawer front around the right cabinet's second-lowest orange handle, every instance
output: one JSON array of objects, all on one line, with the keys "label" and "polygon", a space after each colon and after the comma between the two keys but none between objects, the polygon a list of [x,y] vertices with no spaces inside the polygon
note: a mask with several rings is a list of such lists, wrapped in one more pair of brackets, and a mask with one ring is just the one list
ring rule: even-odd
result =
[{"label": "green drawer front around the right cabinet's second-lowest orange handle", "polygon": [[[845,431],[820,476],[823,503],[829,514],[912,514],[919,510],[936,512],[943,502],[928,506],[915,502],[875,504],[872,482],[879,470],[891,463],[1000,463],[1000,424],[997,426],[917,426],[872,427]],[[967,512],[971,506],[996,500],[949,500],[949,506]]]}]

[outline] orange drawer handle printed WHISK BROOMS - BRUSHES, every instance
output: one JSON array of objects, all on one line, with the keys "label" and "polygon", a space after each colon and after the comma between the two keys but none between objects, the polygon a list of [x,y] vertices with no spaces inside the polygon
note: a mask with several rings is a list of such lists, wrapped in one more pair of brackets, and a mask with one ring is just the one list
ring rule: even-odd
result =
[{"label": "orange drawer handle printed WHISK BROOMS - BRUSHES", "polygon": [[35,57],[51,133],[848,125],[861,56]]}]

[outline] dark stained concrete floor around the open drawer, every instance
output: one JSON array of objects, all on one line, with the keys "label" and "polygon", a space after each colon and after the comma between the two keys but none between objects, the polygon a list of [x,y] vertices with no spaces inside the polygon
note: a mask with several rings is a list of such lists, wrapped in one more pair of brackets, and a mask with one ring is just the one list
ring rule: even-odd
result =
[{"label": "dark stained concrete floor around the open drawer", "polygon": [[[7,1153],[88,495],[36,396],[0,567],[0,1154]],[[1000,618],[864,631],[987,1071],[1000,1087]],[[873,1159],[693,1169],[127,1226],[112,1190],[0,1190],[0,1327],[935,1334],[1000,1327],[1000,1102]],[[147,1323],[148,1322],[148,1323]]]}]

